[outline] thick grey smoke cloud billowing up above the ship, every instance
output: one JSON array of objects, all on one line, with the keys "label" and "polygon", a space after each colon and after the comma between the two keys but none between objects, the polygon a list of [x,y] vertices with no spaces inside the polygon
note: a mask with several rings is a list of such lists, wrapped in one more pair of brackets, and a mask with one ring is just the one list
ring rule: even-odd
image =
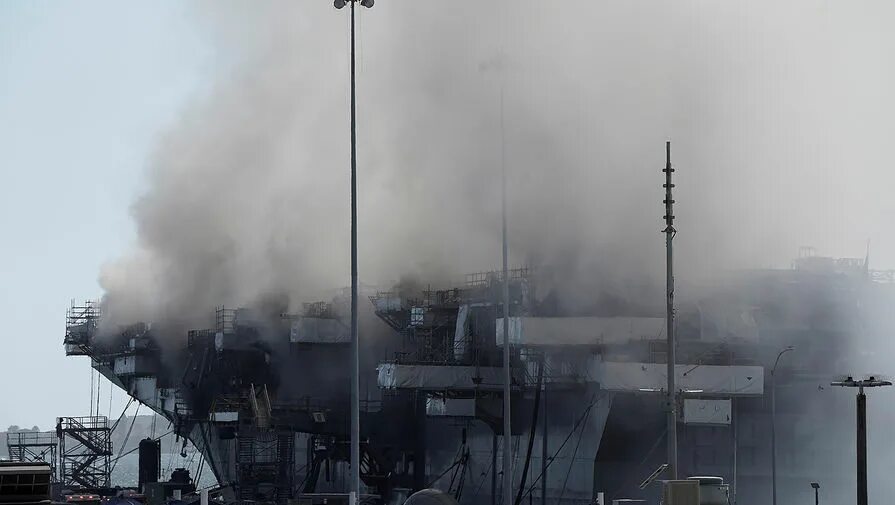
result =
[{"label": "thick grey smoke cloud billowing up above the ship", "polygon": [[[497,267],[502,145],[511,262],[575,280],[569,298],[661,303],[649,287],[664,268],[668,138],[682,275],[784,265],[803,243],[860,251],[870,204],[819,208],[834,189],[853,191],[834,172],[855,144],[836,101],[850,81],[830,65],[852,54],[830,33],[858,21],[832,5],[769,6],[361,10],[361,281]],[[158,143],[133,252],[102,272],[113,320],[189,319],[271,296],[295,308],[349,282],[347,11],[210,2],[196,18],[220,65]],[[867,91],[852,98],[866,107]]]}]

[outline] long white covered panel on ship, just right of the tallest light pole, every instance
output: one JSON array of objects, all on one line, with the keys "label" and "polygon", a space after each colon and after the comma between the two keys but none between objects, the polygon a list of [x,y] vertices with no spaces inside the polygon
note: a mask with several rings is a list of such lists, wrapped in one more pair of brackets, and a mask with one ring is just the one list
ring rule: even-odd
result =
[{"label": "long white covered panel on ship, just right of the tallest light pole", "polygon": [[[384,389],[474,389],[474,378],[481,379],[479,389],[500,390],[503,369],[497,367],[399,365],[382,363],[377,369],[379,387]],[[514,380],[514,382],[516,382]]]}]

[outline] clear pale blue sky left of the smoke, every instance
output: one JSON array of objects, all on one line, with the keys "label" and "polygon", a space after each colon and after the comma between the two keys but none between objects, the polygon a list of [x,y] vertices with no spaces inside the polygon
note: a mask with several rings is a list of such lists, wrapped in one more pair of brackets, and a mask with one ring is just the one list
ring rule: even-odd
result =
[{"label": "clear pale blue sky left of the smoke", "polygon": [[134,238],[148,153],[202,88],[212,53],[187,6],[0,3],[0,430],[88,412],[65,309],[101,294],[101,264]]}]

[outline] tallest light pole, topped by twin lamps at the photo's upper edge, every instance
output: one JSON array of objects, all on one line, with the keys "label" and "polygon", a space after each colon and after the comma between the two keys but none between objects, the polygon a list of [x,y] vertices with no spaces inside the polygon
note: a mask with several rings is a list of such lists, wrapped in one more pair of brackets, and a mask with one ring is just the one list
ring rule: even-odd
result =
[{"label": "tallest light pole, topped by twin lamps at the photo's upper edge", "polygon": [[354,72],[354,4],[372,7],[374,0],[334,0],[336,9],[351,4],[351,478],[350,505],[360,494],[360,348],[357,340],[357,107]]}]

